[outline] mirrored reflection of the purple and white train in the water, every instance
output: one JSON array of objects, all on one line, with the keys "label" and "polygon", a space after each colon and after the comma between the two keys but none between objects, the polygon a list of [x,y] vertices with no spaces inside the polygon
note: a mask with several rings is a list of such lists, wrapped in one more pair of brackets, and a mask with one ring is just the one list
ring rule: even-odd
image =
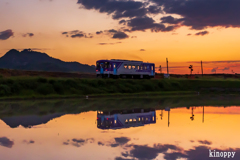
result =
[{"label": "mirrored reflection of the purple and white train in the water", "polygon": [[121,129],[156,123],[155,109],[131,109],[97,111],[97,127],[100,129]]}]

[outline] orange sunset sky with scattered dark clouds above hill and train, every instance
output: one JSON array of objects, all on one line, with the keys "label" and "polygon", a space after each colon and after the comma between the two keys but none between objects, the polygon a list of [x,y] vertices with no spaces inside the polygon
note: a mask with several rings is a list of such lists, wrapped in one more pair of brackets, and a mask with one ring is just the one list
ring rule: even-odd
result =
[{"label": "orange sunset sky with scattered dark clouds above hill and train", "polygon": [[[238,0],[1,0],[0,56],[15,48],[93,65],[155,63],[170,73],[240,73]],[[163,68],[163,71],[166,69]]]}]

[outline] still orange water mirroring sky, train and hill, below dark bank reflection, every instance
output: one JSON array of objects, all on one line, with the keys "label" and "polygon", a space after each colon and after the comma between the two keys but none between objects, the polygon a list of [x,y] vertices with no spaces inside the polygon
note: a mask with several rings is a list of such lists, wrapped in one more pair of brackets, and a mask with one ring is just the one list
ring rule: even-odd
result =
[{"label": "still orange water mirroring sky, train and hill, below dark bank reflection", "polygon": [[2,116],[0,159],[239,160],[239,122],[239,106],[221,105]]}]

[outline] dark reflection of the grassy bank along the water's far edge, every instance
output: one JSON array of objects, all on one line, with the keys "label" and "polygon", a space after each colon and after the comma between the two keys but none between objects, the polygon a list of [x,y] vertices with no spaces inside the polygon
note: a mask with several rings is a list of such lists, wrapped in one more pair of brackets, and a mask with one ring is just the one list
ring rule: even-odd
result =
[{"label": "dark reflection of the grassy bank along the water's far edge", "polygon": [[81,113],[130,108],[240,106],[239,96],[142,97],[109,99],[62,99],[0,102],[0,118],[20,115],[47,115],[52,113]]}]

